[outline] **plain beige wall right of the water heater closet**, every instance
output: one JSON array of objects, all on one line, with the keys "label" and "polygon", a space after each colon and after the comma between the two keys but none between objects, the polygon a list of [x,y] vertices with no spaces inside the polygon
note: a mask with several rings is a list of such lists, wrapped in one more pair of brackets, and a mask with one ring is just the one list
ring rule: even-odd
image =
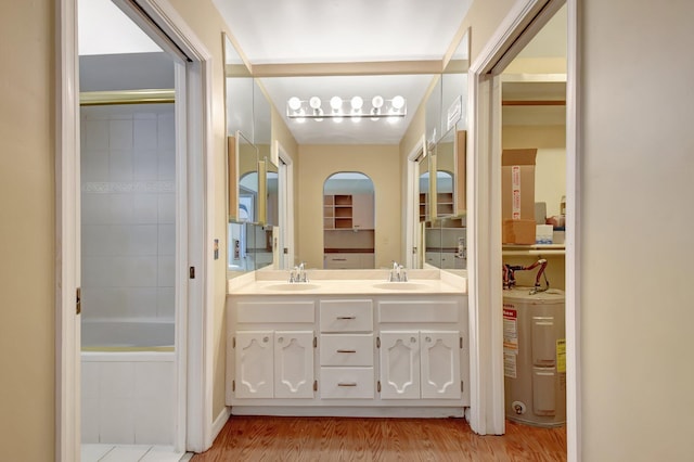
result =
[{"label": "plain beige wall right of the water heater closet", "polygon": [[694,3],[578,5],[582,460],[692,460]]}]

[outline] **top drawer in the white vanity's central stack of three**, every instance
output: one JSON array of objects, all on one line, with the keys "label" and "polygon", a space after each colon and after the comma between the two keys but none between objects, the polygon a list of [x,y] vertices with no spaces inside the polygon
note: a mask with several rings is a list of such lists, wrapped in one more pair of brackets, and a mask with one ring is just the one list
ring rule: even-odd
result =
[{"label": "top drawer in the white vanity's central stack of three", "polygon": [[321,300],[321,332],[373,331],[371,300]]}]

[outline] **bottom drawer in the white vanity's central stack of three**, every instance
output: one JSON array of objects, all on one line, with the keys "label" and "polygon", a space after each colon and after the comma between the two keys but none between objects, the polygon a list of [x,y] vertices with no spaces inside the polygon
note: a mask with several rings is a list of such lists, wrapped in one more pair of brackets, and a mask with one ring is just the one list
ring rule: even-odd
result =
[{"label": "bottom drawer in the white vanity's central stack of three", "polygon": [[321,398],[373,399],[373,368],[321,368]]}]

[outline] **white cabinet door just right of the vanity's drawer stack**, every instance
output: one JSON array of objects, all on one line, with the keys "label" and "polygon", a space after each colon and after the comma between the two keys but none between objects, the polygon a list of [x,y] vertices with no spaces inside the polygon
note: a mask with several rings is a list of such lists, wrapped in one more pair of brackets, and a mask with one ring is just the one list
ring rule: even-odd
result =
[{"label": "white cabinet door just right of the vanity's drawer stack", "polygon": [[420,398],[420,334],[381,332],[381,398]]}]

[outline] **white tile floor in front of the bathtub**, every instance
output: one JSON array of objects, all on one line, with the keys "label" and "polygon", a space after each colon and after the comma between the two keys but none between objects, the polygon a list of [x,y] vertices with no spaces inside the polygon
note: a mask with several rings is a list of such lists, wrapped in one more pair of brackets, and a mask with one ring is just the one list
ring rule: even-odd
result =
[{"label": "white tile floor in front of the bathtub", "polygon": [[170,446],[81,445],[81,462],[182,462],[192,457]]}]

